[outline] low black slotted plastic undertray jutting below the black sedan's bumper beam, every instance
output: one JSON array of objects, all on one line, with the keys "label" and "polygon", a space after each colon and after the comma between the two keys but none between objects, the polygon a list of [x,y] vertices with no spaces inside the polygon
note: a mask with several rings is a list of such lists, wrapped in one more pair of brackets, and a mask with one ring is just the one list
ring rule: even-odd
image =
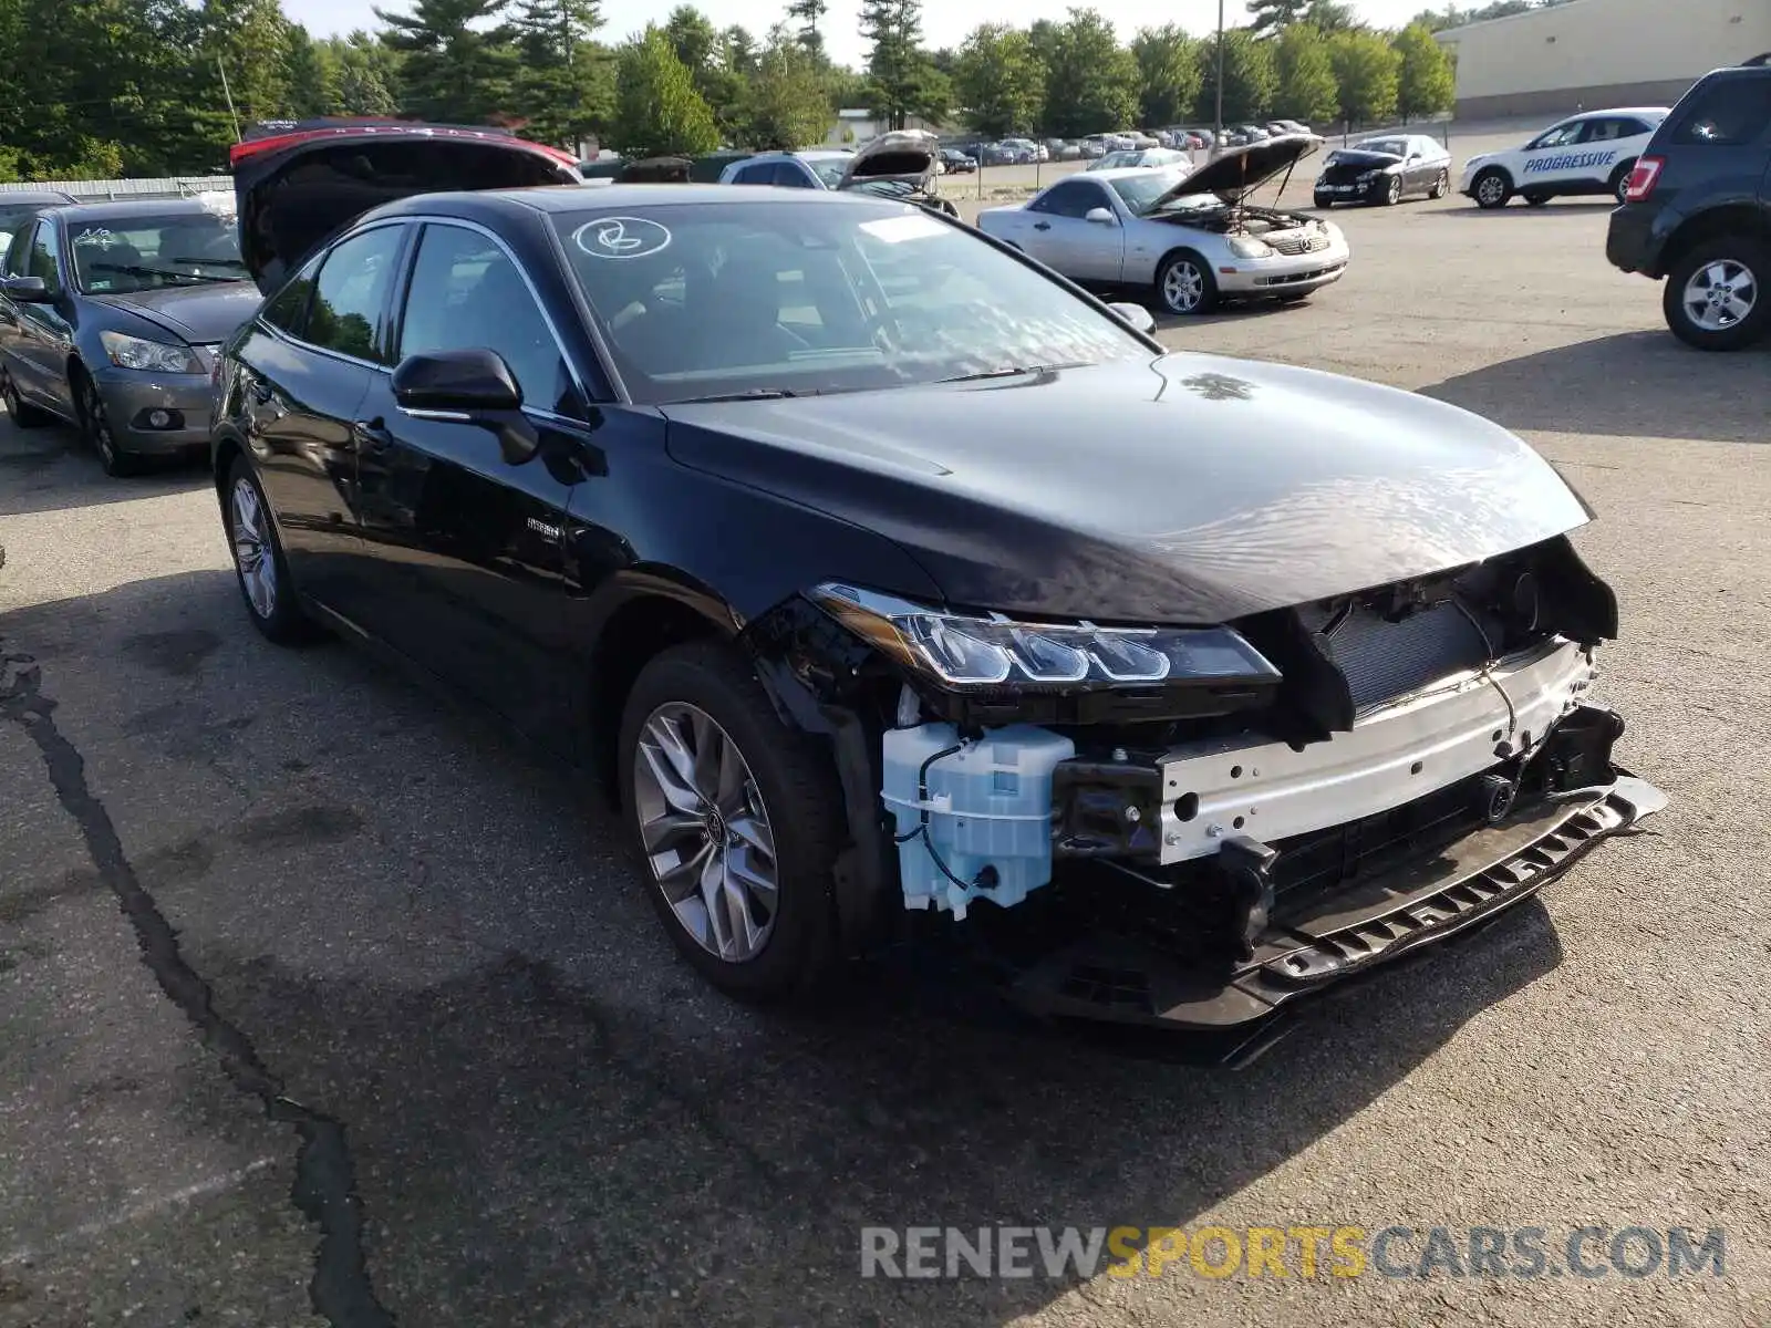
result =
[{"label": "low black slotted plastic undertray jutting below the black sedan's bumper beam", "polygon": [[[1250,953],[1224,963],[1165,942],[1162,928],[1057,924],[1063,940],[1008,984],[1015,1004],[1050,1018],[1179,1031],[1261,1023],[1280,1006],[1452,937],[1528,899],[1603,839],[1665,807],[1651,784],[1615,781],[1543,799],[1440,852],[1307,899],[1280,896]],[[1171,896],[1172,898],[1172,896]]]}]

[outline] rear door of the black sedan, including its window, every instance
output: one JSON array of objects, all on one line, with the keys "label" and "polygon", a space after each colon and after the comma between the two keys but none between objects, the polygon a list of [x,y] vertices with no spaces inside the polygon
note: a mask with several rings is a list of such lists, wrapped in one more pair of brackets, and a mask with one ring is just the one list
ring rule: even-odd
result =
[{"label": "rear door of the black sedan, including its window", "polygon": [[409,232],[370,227],[308,260],[241,333],[237,395],[221,413],[244,421],[296,584],[360,627],[352,421],[388,372],[388,305]]}]

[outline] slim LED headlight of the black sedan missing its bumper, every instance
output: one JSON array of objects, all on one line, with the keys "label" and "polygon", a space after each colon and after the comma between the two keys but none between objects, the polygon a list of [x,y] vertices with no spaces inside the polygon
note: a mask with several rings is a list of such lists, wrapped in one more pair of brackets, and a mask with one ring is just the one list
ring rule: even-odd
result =
[{"label": "slim LED headlight of the black sedan missing its bumper", "polygon": [[1279,669],[1229,627],[976,618],[838,583],[816,586],[809,598],[889,657],[949,689],[1279,682]]}]

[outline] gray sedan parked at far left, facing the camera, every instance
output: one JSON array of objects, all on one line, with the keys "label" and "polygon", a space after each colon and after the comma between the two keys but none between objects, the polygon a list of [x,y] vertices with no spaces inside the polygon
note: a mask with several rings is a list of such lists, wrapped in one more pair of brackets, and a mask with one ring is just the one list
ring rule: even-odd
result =
[{"label": "gray sedan parked at far left, facing the camera", "polygon": [[197,453],[214,352],[257,306],[232,198],[46,209],[0,274],[0,398],[80,429],[106,475]]}]

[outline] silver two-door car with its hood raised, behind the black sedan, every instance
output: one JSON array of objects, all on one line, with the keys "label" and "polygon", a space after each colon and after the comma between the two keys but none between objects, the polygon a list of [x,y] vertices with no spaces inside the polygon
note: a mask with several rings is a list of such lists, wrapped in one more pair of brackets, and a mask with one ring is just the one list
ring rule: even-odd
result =
[{"label": "silver two-door car with its hood raised, behind the black sedan", "polygon": [[1204,313],[1226,297],[1303,299],[1341,280],[1346,237],[1332,221],[1247,198],[1319,145],[1270,138],[1194,172],[1079,172],[1024,205],[985,209],[978,228],[1071,282],[1149,289],[1169,313]]}]

